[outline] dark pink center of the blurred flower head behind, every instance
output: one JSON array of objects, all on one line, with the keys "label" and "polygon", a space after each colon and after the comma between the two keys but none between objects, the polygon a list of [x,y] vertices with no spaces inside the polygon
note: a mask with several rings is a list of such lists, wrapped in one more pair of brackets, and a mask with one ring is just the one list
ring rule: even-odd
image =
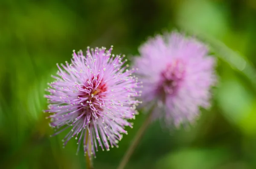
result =
[{"label": "dark pink center of the blurred flower head behind", "polygon": [[167,64],[166,69],[160,73],[160,83],[158,92],[163,98],[166,95],[175,95],[185,74],[184,63],[181,60],[175,60]]}]

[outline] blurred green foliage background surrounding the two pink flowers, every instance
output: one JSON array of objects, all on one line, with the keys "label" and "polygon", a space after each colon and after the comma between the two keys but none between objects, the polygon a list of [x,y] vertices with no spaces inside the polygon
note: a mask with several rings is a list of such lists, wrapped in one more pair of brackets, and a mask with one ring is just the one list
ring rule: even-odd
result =
[{"label": "blurred green foliage background surrounding the two pink flowers", "polygon": [[[148,36],[178,29],[218,58],[212,108],[190,129],[153,123],[127,169],[256,169],[256,0],[0,0],[0,168],[85,169],[76,143],[45,120],[44,89],[73,49],[137,55]],[[115,169],[143,122],[95,169]]]}]

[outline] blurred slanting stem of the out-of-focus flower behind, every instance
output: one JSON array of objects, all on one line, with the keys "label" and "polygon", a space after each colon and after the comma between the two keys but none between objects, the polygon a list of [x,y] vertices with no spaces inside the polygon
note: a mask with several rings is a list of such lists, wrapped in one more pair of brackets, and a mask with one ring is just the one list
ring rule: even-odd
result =
[{"label": "blurred slanting stem of the out-of-focus flower behind", "polygon": [[151,122],[151,116],[152,111],[148,113],[148,116],[146,120],[144,121],[143,125],[140,127],[139,131],[137,132],[136,136],[134,137],[134,140],[132,141],[130,147],[126,151],[124,157],[122,158],[121,162],[119,163],[119,166],[117,169],[124,169],[126,164],[128,163],[129,159],[131,158],[131,155],[134,153],[134,150],[136,149],[138,143],[140,142],[141,138],[145,134],[146,129],[148,128],[149,123]]}]

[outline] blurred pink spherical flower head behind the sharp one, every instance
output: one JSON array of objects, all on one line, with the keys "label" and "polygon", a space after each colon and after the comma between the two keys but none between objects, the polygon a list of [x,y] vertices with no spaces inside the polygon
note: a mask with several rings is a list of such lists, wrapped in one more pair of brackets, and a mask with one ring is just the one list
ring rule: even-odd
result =
[{"label": "blurred pink spherical flower head behind the sharp one", "polygon": [[200,107],[208,108],[215,84],[215,59],[195,38],[172,32],[157,35],[140,48],[135,58],[143,82],[143,103],[156,101],[154,117],[167,124],[194,122]]}]

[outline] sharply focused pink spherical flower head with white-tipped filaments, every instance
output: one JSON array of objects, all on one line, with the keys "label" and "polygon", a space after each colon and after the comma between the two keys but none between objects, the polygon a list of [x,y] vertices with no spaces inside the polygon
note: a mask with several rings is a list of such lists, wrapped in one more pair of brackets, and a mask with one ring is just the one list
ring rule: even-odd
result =
[{"label": "sharply focused pink spherical flower head with white-tipped filaments", "polygon": [[[140,84],[133,70],[123,66],[127,60],[120,55],[111,55],[111,49],[96,48],[78,54],[73,52],[71,64],[58,66],[55,81],[49,83],[47,92],[51,113],[50,126],[58,133],[70,129],[64,137],[64,146],[74,137],[78,149],[83,145],[95,157],[98,146],[107,151],[117,146],[125,126],[132,127],[128,119],[137,114],[135,99]],[[91,50],[91,51],[90,51]]]}]

